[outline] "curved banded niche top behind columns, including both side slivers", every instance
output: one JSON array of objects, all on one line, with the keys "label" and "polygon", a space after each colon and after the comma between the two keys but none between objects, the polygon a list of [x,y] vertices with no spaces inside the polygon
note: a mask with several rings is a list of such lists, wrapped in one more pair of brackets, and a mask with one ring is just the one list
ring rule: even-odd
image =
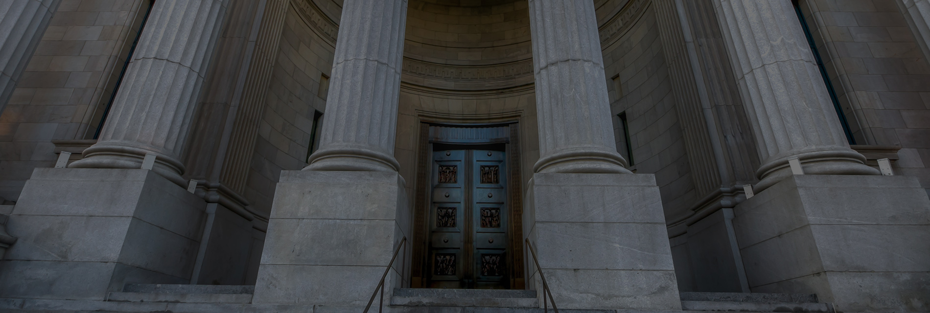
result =
[{"label": "curved banded niche top behind columns, including both side slivers", "polygon": [[[652,0],[591,0],[601,44],[618,42]],[[335,46],[343,0],[293,0]],[[404,81],[431,89],[501,90],[533,83],[527,0],[409,0]]]}]

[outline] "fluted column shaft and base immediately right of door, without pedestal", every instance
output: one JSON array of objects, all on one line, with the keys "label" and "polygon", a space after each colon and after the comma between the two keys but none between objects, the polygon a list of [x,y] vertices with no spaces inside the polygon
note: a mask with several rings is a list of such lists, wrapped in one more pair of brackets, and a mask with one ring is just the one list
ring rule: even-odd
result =
[{"label": "fluted column shaft and base immediately right of door, without pedestal", "polygon": [[617,153],[594,4],[530,0],[538,173],[631,173]]}]

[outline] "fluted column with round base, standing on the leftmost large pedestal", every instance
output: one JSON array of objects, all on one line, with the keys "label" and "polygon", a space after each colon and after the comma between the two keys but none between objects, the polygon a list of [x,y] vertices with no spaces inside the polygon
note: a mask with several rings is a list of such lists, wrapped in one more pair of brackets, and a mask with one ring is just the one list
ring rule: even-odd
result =
[{"label": "fluted column with round base, standing on the leftmost large pedestal", "polygon": [[140,168],[185,185],[181,152],[229,0],[159,0],[97,144],[69,167]]}]

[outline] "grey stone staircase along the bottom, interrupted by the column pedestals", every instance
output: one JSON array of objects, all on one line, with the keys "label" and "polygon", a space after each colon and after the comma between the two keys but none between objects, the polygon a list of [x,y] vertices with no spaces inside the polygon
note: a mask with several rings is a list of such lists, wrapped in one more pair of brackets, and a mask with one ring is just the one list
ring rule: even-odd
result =
[{"label": "grey stone staircase along the bottom, interrupted by the column pedestals", "polygon": [[[356,306],[253,305],[254,286],[126,284],[107,301],[0,299],[0,312],[172,312],[172,313],[341,313],[362,312]],[[556,300],[556,304],[558,304]],[[544,313],[535,291],[395,289],[388,313]],[[815,294],[682,293],[681,312],[830,313]],[[369,312],[378,312],[372,306]],[[550,307],[550,311],[551,310]],[[560,310],[565,313],[645,313],[643,310]]]}]

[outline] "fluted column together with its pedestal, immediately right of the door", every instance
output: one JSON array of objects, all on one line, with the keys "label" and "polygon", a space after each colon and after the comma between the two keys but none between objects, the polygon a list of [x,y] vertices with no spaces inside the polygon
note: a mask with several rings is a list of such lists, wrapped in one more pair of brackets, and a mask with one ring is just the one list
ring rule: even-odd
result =
[{"label": "fluted column together with its pedestal, immediately right of the door", "polygon": [[544,274],[563,309],[680,310],[655,176],[617,153],[594,3],[529,0],[529,11],[540,158],[524,199],[538,255],[527,287],[541,291]]}]

